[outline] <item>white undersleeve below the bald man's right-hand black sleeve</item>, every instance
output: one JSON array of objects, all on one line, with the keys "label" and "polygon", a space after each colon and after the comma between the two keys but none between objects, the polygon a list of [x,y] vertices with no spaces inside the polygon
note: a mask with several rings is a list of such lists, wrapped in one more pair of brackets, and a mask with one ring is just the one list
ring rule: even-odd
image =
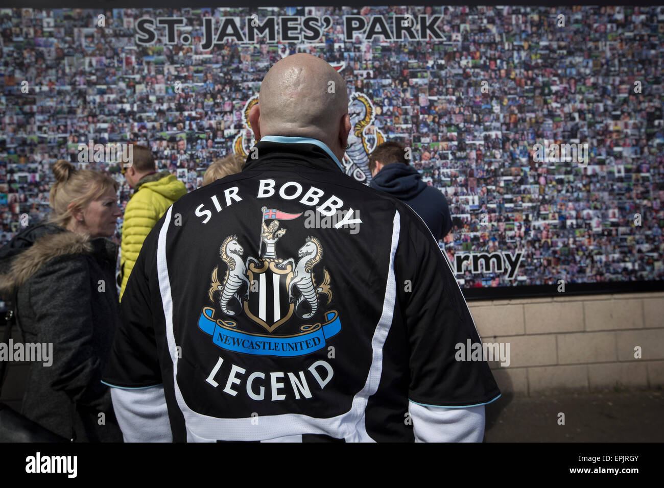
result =
[{"label": "white undersleeve below the bald man's right-hand black sleeve", "polygon": [[445,408],[408,402],[415,442],[482,442],[484,406]]}]

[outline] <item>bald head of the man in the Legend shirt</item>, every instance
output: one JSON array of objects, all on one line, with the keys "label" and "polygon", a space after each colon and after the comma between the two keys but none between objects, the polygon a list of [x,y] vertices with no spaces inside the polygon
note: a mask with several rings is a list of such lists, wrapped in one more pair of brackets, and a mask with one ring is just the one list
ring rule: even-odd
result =
[{"label": "bald head of the man in the Legend shirt", "polygon": [[346,83],[321,58],[293,54],[265,75],[249,120],[256,139],[265,135],[313,137],[341,159],[351,130]]}]

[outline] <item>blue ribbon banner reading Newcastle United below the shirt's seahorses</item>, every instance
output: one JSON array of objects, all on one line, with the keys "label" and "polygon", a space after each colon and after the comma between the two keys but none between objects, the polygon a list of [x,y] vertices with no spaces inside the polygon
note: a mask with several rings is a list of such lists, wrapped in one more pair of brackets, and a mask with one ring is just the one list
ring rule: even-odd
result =
[{"label": "blue ribbon banner reading Newcastle United below the shirt's seahorses", "polygon": [[215,320],[214,309],[205,307],[199,317],[199,329],[212,336],[212,342],[226,351],[236,353],[295,357],[313,353],[325,347],[325,339],[341,331],[341,321],[337,312],[325,312],[327,321],[323,324],[304,325],[305,332],[281,337],[269,337],[240,332],[233,329],[237,324],[232,320]]}]

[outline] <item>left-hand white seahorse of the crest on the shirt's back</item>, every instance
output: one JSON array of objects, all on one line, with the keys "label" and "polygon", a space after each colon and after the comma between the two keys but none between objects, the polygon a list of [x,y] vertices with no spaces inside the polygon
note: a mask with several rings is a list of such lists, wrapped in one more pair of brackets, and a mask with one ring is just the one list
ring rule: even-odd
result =
[{"label": "left-hand white seahorse of the crest on the shirt's back", "polygon": [[240,246],[240,243],[237,241],[237,236],[228,236],[219,248],[219,256],[222,258],[224,263],[228,266],[226,269],[226,276],[224,276],[224,283],[219,283],[217,279],[218,266],[214,267],[212,274],[210,276],[210,289],[208,290],[208,297],[210,301],[214,301],[214,293],[216,291],[221,291],[221,296],[219,297],[219,306],[221,311],[226,315],[236,315],[236,311],[233,311],[228,307],[232,298],[235,298],[240,307],[242,305],[242,299],[238,291],[242,284],[246,284],[246,291],[244,293],[244,300],[249,298],[249,288],[250,283],[249,279],[246,277],[246,264],[242,262],[242,253],[244,249]]}]

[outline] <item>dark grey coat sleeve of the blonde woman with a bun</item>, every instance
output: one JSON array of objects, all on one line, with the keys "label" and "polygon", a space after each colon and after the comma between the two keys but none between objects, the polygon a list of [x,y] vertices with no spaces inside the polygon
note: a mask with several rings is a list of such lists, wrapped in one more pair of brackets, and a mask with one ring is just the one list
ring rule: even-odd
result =
[{"label": "dark grey coat sleeve of the blonde woman with a bun", "polygon": [[[53,284],[58,284],[54,286]],[[102,361],[93,345],[90,270],[84,256],[60,256],[47,262],[30,280],[29,300],[39,324],[39,341],[53,346],[52,365],[43,377],[76,404],[108,412],[111,398],[101,383]]]}]

